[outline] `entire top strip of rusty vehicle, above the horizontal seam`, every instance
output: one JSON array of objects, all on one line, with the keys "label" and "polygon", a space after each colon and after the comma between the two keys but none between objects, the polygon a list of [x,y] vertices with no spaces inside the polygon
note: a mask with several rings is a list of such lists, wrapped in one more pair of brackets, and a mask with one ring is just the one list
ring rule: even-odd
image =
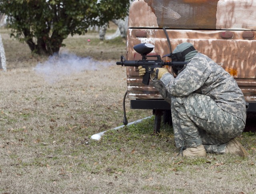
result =
[{"label": "entire top strip of rusty vehicle, above the horizontal seam", "polygon": [[129,27],[256,30],[254,0],[135,0]]}]

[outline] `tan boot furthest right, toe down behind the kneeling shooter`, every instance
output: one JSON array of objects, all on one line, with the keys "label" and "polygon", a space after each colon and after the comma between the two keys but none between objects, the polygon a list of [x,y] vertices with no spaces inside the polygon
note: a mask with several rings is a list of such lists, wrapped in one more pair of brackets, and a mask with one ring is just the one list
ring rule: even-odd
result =
[{"label": "tan boot furthest right, toe down behind the kneeling shooter", "polygon": [[249,156],[246,149],[235,138],[229,140],[225,153],[237,154],[239,156]]}]

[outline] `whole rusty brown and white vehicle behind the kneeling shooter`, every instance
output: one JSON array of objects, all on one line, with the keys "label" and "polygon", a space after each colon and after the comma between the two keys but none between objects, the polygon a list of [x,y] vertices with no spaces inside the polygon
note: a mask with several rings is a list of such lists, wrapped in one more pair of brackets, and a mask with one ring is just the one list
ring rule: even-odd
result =
[{"label": "whole rusty brown and white vehicle behind the kneeling shooter", "polygon": [[[247,111],[256,111],[255,10],[255,0],[134,0],[129,10],[126,60],[142,58],[133,49],[140,43],[153,44],[152,53],[164,56],[178,44],[190,42],[235,78]],[[138,68],[126,68],[130,108],[152,109],[154,132],[161,118],[171,124],[170,104],[152,84],[142,84]]]}]

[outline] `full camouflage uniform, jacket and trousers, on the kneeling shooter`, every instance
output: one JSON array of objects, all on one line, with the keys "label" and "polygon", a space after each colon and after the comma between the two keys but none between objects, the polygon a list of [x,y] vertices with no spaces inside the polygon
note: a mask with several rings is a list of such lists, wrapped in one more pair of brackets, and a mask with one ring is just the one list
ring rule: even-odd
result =
[{"label": "full camouflage uniform, jacket and trousers, on the kneeling shooter", "polygon": [[176,78],[166,73],[153,82],[171,104],[176,146],[204,145],[207,152],[225,152],[226,143],[244,130],[246,106],[233,77],[198,53]]}]

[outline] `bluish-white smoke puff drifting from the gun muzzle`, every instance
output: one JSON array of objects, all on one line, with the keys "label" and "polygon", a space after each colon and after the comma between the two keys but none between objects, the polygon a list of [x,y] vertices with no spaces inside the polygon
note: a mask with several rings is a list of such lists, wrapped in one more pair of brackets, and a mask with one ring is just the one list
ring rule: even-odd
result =
[{"label": "bluish-white smoke puff drifting from the gun muzzle", "polygon": [[62,52],[50,56],[47,61],[38,63],[34,68],[37,74],[44,76],[47,82],[56,82],[59,78],[70,74],[98,70],[102,66],[111,66],[114,62],[97,61],[91,57],[78,57],[76,54]]}]

